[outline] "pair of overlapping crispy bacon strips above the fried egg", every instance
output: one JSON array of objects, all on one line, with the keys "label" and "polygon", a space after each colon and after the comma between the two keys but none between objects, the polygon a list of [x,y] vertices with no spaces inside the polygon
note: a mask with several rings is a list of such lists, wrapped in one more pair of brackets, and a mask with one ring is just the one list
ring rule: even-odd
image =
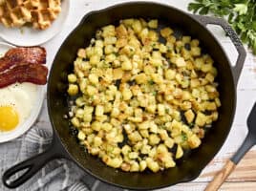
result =
[{"label": "pair of overlapping crispy bacon strips above the fried egg", "polygon": [[48,69],[46,51],[42,47],[13,48],[0,58],[0,88],[15,82],[44,85]]}]

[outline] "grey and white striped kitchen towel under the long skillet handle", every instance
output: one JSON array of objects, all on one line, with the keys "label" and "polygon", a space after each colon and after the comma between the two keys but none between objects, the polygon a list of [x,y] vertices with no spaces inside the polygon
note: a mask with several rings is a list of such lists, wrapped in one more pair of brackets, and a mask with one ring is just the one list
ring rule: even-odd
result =
[{"label": "grey and white striped kitchen towel under the long skillet handle", "polygon": [[[0,177],[15,163],[44,151],[52,141],[52,132],[33,127],[21,138],[0,144]],[[0,190],[9,190],[2,180]],[[13,189],[12,189],[13,190]],[[66,159],[49,162],[36,175],[18,187],[18,191],[120,191],[122,189],[96,180]]]}]

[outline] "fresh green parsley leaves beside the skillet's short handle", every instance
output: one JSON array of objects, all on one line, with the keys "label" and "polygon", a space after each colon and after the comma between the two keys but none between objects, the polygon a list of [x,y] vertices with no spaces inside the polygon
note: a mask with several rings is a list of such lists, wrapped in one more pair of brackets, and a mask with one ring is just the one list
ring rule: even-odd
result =
[{"label": "fresh green parsley leaves beside the skillet's short handle", "polygon": [[189,11],[227,18],[241,40],[256,54],[256,0],[194,1],[188,5]]}]

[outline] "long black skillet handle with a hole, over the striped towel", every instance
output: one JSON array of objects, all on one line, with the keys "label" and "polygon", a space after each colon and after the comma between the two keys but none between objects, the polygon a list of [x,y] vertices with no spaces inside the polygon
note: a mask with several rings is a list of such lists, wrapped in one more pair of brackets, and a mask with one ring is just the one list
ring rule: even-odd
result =
[{"label": "long black skillet handle with a hole, over the striped towel", "polygon": [[[68,158],[68,155],[60,141],[53,135],[53,142],[48,150],[12,166],[4,173],[2,177],[3,183],[9,188],[16,188],[31,179],[47,162],[59,158]],[[11,176],[23,170],[26,170],[26,172],[15,180],[11,179]]]}]

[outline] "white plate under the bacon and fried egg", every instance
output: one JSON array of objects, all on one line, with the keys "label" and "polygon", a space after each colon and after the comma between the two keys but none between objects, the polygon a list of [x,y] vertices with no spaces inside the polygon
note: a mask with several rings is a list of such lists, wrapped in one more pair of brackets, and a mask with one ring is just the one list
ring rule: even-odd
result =
[{"label": "white plate under the bacon and fried egg", "polygon": [[[0,55],[2,56],[11,48],[13,48],[13,46],[0,42]],[[41,111],[44,96],[45,86],[38,85],[36,87],[36,98],[34,101],[34,105],[32,107],[30,117],[26,118],[26,120],[22,124],[18,125],[15,129],[9,132],[0,132],[0,142],[6,142],[13,138],[18,138],[31,128],[32,124],[34,123],[34,121],[36,120]]]}]

